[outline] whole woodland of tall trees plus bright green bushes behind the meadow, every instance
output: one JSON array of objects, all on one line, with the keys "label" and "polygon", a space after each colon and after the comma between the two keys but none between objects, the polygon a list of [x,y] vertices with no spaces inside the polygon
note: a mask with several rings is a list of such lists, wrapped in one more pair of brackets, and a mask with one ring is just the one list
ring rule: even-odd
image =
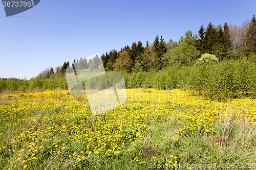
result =
[{"label": "whole woodland of tall trees plus bright green bushes behind the meadow", "polygon": [[[236,26],[224,23],[215,27],[209,22],[198,34],[188,30],[177,41],[165,42],[158,35],[153,43],[133,42],[119,51],[100,56],[106,71],[118,71],[126,87],[157,89],[182,88],[188,85],[211,99],[254,96],[256,90],[256,20],[245,20]],[[74,60],[80,68],[94,67],[99,57]],[[36,78],[0,79],[0,91],[67,89],[65,72],[69,62],[46,68]]]}]

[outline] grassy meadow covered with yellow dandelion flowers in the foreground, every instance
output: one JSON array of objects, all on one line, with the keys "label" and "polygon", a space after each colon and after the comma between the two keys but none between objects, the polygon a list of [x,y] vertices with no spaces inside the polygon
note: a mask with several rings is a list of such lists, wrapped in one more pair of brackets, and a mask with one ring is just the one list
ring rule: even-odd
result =
[{"label": "grassy meadow covered with yellow dandelion flowers in the foreground", "polygon": [[256,100],[126,91],[123,105],[95,116],[67,90],[0,94],[0,169],[255,168]]}]

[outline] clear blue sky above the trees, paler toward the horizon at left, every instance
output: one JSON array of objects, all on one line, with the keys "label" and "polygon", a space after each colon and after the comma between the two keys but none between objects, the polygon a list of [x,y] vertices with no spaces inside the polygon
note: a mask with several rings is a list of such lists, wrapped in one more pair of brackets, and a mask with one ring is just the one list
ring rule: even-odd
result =
[{"label": "clear blue sky above the trees, paler toward the horizon at left", "polygon": [[208,23],[241,25],[256,14],[256,1],[41,0],[6,17],[0,7],[0,78],[30,79],[46,67],[120,50],[158,34],[178,41]]}]

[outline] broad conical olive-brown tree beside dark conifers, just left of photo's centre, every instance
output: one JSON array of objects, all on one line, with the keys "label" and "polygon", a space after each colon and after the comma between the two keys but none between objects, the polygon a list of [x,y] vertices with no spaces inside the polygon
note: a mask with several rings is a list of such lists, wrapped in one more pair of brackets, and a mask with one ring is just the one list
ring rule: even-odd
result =
[{"label": "broad conical olive-brown tree beside dark conifers, just left of photo's centre", "polygon": [[122,51],[122,53],[120,53],[119,57],[116,60],[116,63],[113,64],[113,68],[116,71],[125,71],[127,73],[134,71],[133,61],[129,57],[127,51]]}]

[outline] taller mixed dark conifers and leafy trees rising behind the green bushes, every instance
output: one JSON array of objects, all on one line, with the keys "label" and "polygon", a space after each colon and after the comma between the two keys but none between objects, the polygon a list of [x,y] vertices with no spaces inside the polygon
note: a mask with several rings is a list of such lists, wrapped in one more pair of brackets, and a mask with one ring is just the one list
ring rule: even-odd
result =
[{"label": "taller mixed dark conifers and leafy trees rising behind the green bushes", "polygon": [[[241,26],[228,25],[224,23],[214,27],[209,22],[204,28],[202,25],[197,34],[186,31],[185,36],[181,36],[177,41],[169,39],[165,42],[163,36],[157,35],[153,43],[146,41],[146,46],[142,42],[133,42],[131,46],[126,45],[119,51],[111,50],[100,56],[106,71],[125,71],[127,73],[161,70],[168,65],[193,65],[202,54],[215,55],[220,61],[227,59],[238,59],[256,52],[256,19],[252,16],[251,21],[245,20]],[[98,57],[98,56],[97,56]],[[87,61],[86,58],[74,60],[72,64],[77,64],[79,69],[93,67],[99,62],[98,58]],[[97,64],[96,64],[97,65]],[[62,66],[46,68],[37,77],[39,79],[49,79],[65,75],[65,70],[69,62],[64,62]]]}]

